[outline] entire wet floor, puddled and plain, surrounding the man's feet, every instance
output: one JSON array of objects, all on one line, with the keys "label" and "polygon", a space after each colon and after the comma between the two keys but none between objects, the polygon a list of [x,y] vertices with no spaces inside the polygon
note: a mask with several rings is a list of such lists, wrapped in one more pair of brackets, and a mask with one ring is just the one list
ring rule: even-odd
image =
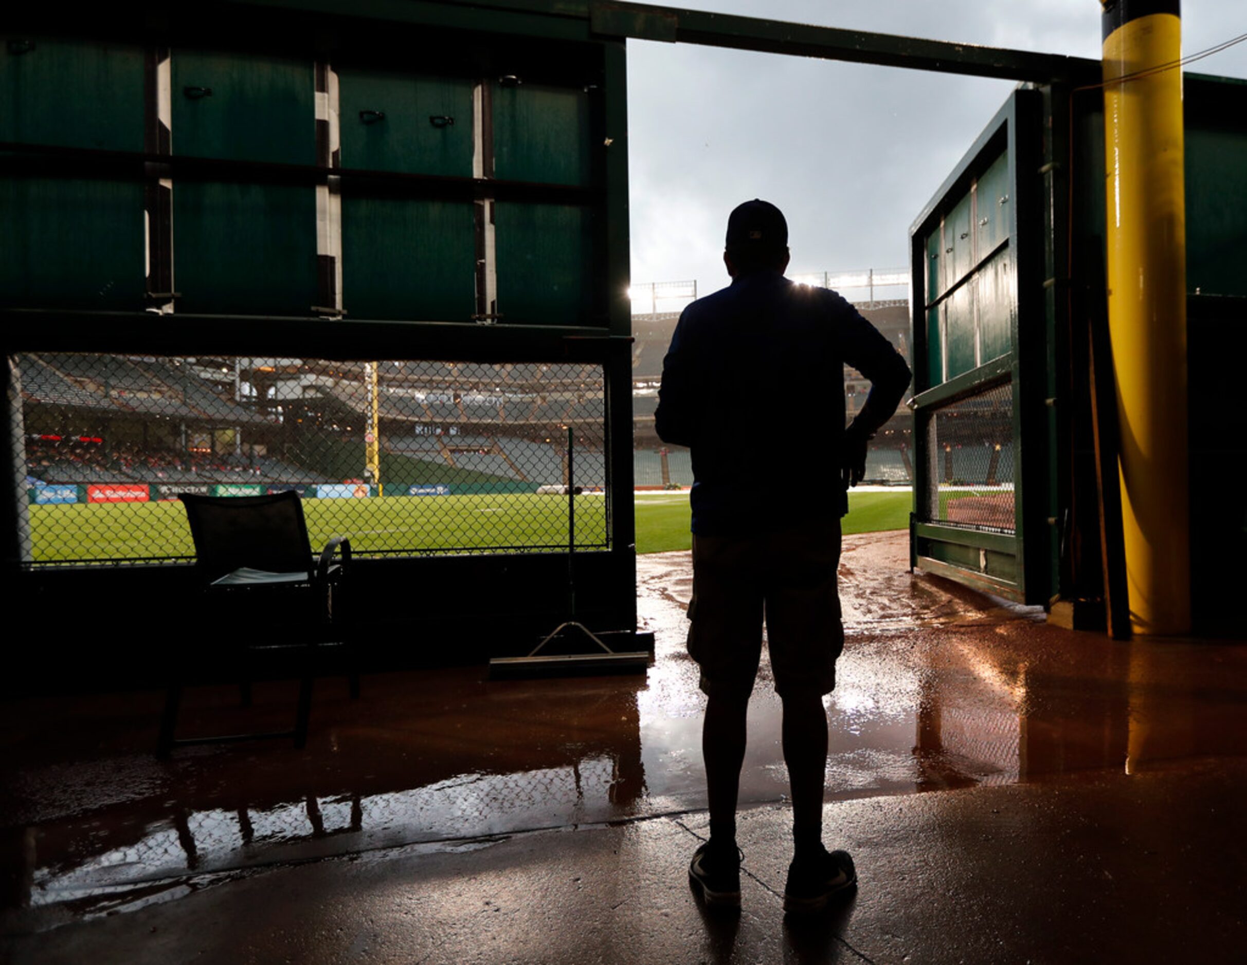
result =
[{"label": "entire wet floor, puddled and plain, surrounding the man's feet", "polygon": [[[178,751],[171,762],[151,753],[158,693],[0,706],[0,949],[29,961],[81,960],[75,955],[86,951],[97,961],[183,960],[197,954],[195,943],[206,938],[200,929],[216,914],[267,915],[284,923],[287,938],[263,924],[256,928],[266,940],[239,933],[231,945],[216,935],[211,949],[198,949],[208,960],[232,960],[231,949],[243,946],[256,961],[832,960],[858,953],[874,960],[993,960],[980,956],[989,948],[978,939],[959,933],[941,944],[936,935],[953,930],[954,920],[964,929],[970,911],[970,924],[984,925],[983,901],[999,898],[984,888],[1016,876],[1028,862],[1055,860],[1045,873],[1052,881],[1072,874],[1071,886],[1084,886],[1086,868],[1066,873],[1062,858],[1099,860],[1105,849],[1122,853],[1115,859],[1122,873],[1139,865],[1146,879],[1150,867],[1172,867],[1205,894],[1223,893],[1225,908],[1201,906],[1213,953],[1243,938],[1247,900],[1238,900],[1245,895],[1235,880],[1242,879],[1243,825],[1228,815],[1243,813],[1247,790],[1247,647],[1115,643],[1049,627],[1041,610],[912,576],[905,565],[905,534],[845,539],[848,642],[839,686],[827,701],[827,813],[831,842],[840,834],[875,849],[875,891],[859,899],[874,903],[873,911],[854,911],[853,928],[833,916],[809,941],[797,940],[774,911],[787,860],[787,778],[779,703],[764,661],[749,708],[741,800],[742,845],[753,855],[749,888],[767,910],[739,920],[725,944],[721,923],[698,918],[687,889],[671,884],[682,880],[705,828],[703,697],[682,647],[688,555],[660,554],[641,557],[638,567],[640,612],[657,640],[646,677],[489,682],[480,667],[378,675],[364,678],[358,702],[347,699],[343,681],[325,679],[318,682],[304,752],[253,743]],[[287,724],[289,684],[257,687],[256,707],[246,712],[236,697],[228,688],[192,691],[186,729]],[[1001,813],[1014,817],[993,817]],[[1227,840],[1218,844],[1222,823]],[[1190,832],[1185,862],[1148,859],[1148,844],[1162,854],[1173,847],[1162,838],[1177,827]],[[584,832],[564,833],[572,829]],[[1140,840],[1150,833],[1160,835],[1155,843]],[[1071,835],[1077,858],[1061,852]],[[1191,852],[1198,835],[1218,849],[1216,857]],[[963,857],[955,871],[933,847]],[[917,855],[918,867],[907,868],[905,855]],[[1200,875],[1191,859],[1201,860]],[[1218,862],[1233,860],[1237,873],[1218,870]],[[577,878],[580,863],[587,874]],[[599,880],[617,879],[620,869],[641,878],[610,888]],[[1205,880],[1210,869],[1216,880]],[[1117,880],[1109,864],[1102,870],[1107,878],[1090,880]],[[579,883],[574,900],[562,894],[571,879]],[[505,929],[476,934],[478,913],[496,900],[490,894],[515,899],[539,885],[561,895],[551,898],[552,908],[570,919],[551,924],[550,908],[530,908],[513,920],[522,935],[510,944]],[[653,895],[640,895],[642,885],[652,885]],[[1122,883],[1101,886],[1120,891]],[[358,898],[344,898],[359,888],[398,901],[407,910],[387,919],[389,926],[415,931],[390,934],[375,924]],[[302,895],[302,904],[289,905],[281,889]],[[1139,900],[1172,894],[1173,881],[1150,889]],[[301,909],[323,913],[330,895],[340,901],[329,918],[352,936],[322,936],[323,954],[313,954],[291,936],[312,928],[299,924]],[[973,909],[965,905],[971,895],[979,903]],[[936,908],[951,901],[960,919],[922,924],[918,908],[933,898]],[[1084,895],[1084,911],[1087,900],[1094,895]],[[653,923],[637,918],[651,905]],[[909,931],[888,924],[888,906],[894,914],[907,909]],[[349,908],[364,918],[349,919],[342,910]],[[676,934],[663,931],[663,909]],[[1102,935],[1116,914],[1084,924]],[[1152,929],[1167,920],[1157,909],[1148,914]],[[412,915],[428,920],[415,926]],[[600,934],[576,939],[569,923],[577,918]],[[155,934],[143,929],[157,919],[151,928],[163,929],[160,943],[135,945],[135,935]],[[364,928],[368,920],[374,925]],[[441,936],[428,931],[420,939],[430,921],[443,923]],[[771,938],[749,938],[749,921],[771,929]],[[542,929],[554,944],[531,945]],[[620,944],[617,929],[652,933],[653,954],[638,956],[645,943]],[[370,950],[352,954],[350,943],[364,940],[364,931]],[[1026,960],[1028,949],[1044,953],[1034,960],[1067,960],[1060,949],[1081,945],[1065,941],[1015,928],[1013,944],[1003,946],[1010,954],[999,960]]]}]

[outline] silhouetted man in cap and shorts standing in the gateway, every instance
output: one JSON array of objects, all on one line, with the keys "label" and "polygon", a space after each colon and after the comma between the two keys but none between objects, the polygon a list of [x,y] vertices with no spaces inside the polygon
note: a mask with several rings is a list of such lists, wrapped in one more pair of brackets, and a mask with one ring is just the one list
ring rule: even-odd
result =
[{"label": "silhouetted man in cap and shorts standing in the gateway", "polygon": [[[767,643],[783,702],[793,802],[786,911],[812,911],[857,881],[823,847],[827,711],[844,643],[835,570],[847,490],[867,441],[895,411],[910,372],[835,292],[784,278],[788,224],[747,201],[727,221],[732,284],[680,317],[662,364],[657,431],[692,450],[693,596],[688,652],[707,696],[702,756],[710,840],[688,874],[707,905],[741,904],[736,799],[746,709]],[[844,428],[844,365],[872,383]]]}]

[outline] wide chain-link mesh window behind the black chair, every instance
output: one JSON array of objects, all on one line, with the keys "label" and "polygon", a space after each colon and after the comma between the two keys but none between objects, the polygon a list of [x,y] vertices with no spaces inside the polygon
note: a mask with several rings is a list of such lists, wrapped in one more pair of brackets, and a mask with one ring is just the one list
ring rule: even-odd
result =
[{"label": "wide chain-link mesh window behind the black chair", "polygon": [[[364,556],[604,549],[599,365],[22,354],[26,560],[193,559],[182,492],[297,490]],[[570,429],[570,435],[569,435]],[[561,497],[560,497],[561,496]]]}]

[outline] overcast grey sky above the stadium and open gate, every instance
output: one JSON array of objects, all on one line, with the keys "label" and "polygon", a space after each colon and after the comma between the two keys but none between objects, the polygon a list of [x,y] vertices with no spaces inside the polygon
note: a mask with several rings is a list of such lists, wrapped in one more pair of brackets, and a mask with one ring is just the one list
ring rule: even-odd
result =
[{"label": "overcast grey sky above the stadium and open gate", "polygon": [[[1100,56],[1095,0],[676,5]],[[1183,55],[1247,32],[1243,0],[1183,0],[1182,14]],[[789,273],[907,264],[910,222],[1015,86],[636,40],[627,60],[632,279],[697,279],[700,294],[728,282],[727,214],[753,197],[774,202],[788,218]],[[1191,70],[1247,77],[1247,44]]]}]

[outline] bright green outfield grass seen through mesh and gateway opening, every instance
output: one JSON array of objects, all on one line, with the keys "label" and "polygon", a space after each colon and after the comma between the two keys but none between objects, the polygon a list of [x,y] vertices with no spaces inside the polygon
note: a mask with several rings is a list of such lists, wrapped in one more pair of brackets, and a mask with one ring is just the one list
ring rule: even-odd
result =
[{"label": "bright green outfield grass seen through mesh and gateway opening", "polygon": [[[909,490],[849,492],[844,532],[904,529],[910,504]],[[387,496],[307,500],[303,505],[313,546],[324,545],[330,536],[349,536],[357,552],[556,549],[567,542],[567,500],[561,496]],[[576,499],[575,505],[576,545],[601,546],[606,501],[589,495]],[[29,510],[36,562],[191,557],[195,552],[186,514],[176,501],[32,505]],[[690,549],[688,520],[687,492],[637,494],[637,551]]]}]

